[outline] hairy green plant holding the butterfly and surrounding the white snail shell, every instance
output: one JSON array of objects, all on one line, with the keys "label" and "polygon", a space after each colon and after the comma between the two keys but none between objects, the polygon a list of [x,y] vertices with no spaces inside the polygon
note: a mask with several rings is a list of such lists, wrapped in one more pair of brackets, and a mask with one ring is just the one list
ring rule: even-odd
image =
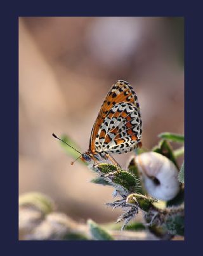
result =
[{"label": "hairy green plant holding the butterfly and surrounding the white snail shell", "polygon": [[[91,182],[114,187],[113,196],[119,197],[119,199],[106,205],[112,208],[122,208],[124,213],[116,221],[116,223],[123,222],[122,229],[128,227],[129,221],[133,220],[138,212],[141,212],[145,219],[145,227],[148,227],[151,232],[162,239],[170,239],[175,234],[181,236],[184,234],[184,163],[178,174],[179,166],[176,161],[179,156],[184,154],[184,147],[174,151],[169,141],[183,143],[184,137],[173,133],[161,133],[159,137],[161,138],[159,145],[155,146],[150,152],[156,152],[155,154],[164,156],[164,161],[166,158],[167,161],[169,159],[173,168],[177,169],[175,181],[176,183],[180,182],[178,182],[178,192],[176,192],[174,198],[165,200],[164,203],[162,201],[162,205],[166,205],[165,208],[160,208],[156,205],[160,203],[159,198],[148,194],[145,182],[143,182],[143,173],[138,168],[136,159],[138,156],[148,152],[147,150],[137,149],[134,152],[134,156],[129,160],[127,170],[123,170],[121,166],[115,166],[110,163],[100,163],[89,166],[89,168],[98,175]],[[65,137],[63,139],[69,141]],[[154,159],[152,158],[150,161],[154,161]],[[161,167],[164,168],[163,166],[162,164]],[[166,175],[171,175],[170,172],[172,170],[170,167],[168,169],[167,172],[169,174]],[[161,170],[161,172],[165,172],[165,170]],[[157,179],[157,177],[147,176],[147,179],[150,179],[152,183],[154,182],[155,189],[161,189],[162,181]]]}]

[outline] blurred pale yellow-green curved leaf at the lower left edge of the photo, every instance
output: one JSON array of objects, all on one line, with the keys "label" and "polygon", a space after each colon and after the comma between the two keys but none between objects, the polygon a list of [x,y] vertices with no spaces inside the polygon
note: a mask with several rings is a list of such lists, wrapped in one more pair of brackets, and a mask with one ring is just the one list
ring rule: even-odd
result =
[{"label": "blurred pale yellow-green curved leaf at the lower left edge of the photo", "polygon": [[55,210],[55,205],[53,201],[39,192],[29,192],[26,194],[22,194],[19,197],[19,206],[25,205],[34,206],[44,214],[48,214]]}]

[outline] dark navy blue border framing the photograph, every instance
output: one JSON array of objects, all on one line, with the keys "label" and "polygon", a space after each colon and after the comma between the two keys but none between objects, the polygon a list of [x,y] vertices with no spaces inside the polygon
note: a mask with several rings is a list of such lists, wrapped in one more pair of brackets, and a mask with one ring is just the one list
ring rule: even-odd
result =
[{"label": "dark navy blue border framing the photograph", "polygon": [[[5,2],[5,1],[4,1]],[[197,1],[13,1],[1,4],[1,252],[3,255],[197,255],[202,234],[202,8]],[[18,241],[18,17],[185,17],[185,241]],[[202,111],[201,111],[202,112]],[[195,144],[196,142],[196,144]],[[194,145],[195,144],[195,145]],[[201,154],[201,156],[200,156]],[[63,254],[62,254],[63,253]]]}]

